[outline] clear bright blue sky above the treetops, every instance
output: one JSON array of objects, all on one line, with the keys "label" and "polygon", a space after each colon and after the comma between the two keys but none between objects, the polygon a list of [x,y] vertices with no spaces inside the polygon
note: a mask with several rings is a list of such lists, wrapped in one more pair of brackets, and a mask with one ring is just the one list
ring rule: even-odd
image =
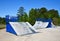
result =
[{"label": "clear bright blue sky above the treetops", "polygon": [[21,6],[25,8],[27,13],[31,8],[42,7],[48,10],[55,9],[60,13],[60,0],[0,0],[0,17],[16,16],[17,10]]}]

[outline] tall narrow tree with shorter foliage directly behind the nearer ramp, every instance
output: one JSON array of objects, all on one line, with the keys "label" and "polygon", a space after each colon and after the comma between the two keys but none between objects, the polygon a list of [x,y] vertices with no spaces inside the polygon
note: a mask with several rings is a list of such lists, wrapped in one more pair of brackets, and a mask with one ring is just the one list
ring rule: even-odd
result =
[{"label": "tall narrow tree with shorter foliage directly behind the nearer ramp", "polygon": [[28,15],[24,12],[24,7],[20,7],[18,10],[18,21],[19,22],[26,22],[28,21]]}]

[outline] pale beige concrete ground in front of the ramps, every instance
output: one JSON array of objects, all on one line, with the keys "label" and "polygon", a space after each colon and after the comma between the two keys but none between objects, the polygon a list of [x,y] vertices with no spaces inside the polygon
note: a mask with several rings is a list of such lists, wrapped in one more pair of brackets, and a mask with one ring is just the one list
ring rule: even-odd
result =
[{"label": "pale beige concrete ground in front of the ramps", "polygon": [[38,29],[39,33],[16,36],[0,30],[0,41],[60,41],[60,28]]}]

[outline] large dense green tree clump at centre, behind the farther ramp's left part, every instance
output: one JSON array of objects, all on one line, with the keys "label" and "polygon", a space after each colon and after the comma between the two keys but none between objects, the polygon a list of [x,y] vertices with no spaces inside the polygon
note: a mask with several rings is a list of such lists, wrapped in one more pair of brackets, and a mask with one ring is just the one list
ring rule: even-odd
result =
[{"label": "large dense green tree clump at centre, behind the farther ramp's left part", "polygon": [[47,12],[47,9],[46,8],[41,8],[41,9],[31,9],[30,11],[29,11],[29,22],[32,24],[32,25],[34,25],[34,23],[35,23],[35,21],[36,21],[36,19],[37,18],[45,18],[45,16],[44,16],[44,13],[45,12]]}]

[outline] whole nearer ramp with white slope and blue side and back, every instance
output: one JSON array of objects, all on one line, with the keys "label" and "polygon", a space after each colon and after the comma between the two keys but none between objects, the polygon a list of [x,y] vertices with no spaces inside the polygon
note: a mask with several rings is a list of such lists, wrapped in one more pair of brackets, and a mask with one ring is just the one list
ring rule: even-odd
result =
[{"label": "whole nearer ramp with white slope and blue side and back", "polygon": [[26,22],[17,22],[17,17],[6,16],[6,31],[15,35],[35,33],[36,30]]}]

